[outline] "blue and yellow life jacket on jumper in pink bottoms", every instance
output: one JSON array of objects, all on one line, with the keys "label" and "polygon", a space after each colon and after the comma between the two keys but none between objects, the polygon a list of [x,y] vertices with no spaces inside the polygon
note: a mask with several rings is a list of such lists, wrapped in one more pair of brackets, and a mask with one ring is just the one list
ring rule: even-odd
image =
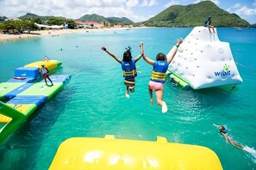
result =
[{"label": "blue and yellow life jacket on jumper in pink bottoms", "polygon": [[168,63],[164,61],[155,61],[153,63],[153,71],[151,79],[153,82],[165,82],[166,70],[168,69]]}]

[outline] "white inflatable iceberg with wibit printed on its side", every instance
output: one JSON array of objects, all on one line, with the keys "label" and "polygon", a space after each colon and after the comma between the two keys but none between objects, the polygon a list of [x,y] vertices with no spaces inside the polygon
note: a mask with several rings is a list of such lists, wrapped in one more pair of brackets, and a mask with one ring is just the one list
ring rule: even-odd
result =
[{"label": "white inflatable iceberg with wibit printed on its side", "polygon": [[179,46],[169,71],[172,80],[183,82],[184,88],[212,88],[242,82],[229,43],[219,40],[216,28],[215,33],[209,33],[207,27],[194,27]]}]

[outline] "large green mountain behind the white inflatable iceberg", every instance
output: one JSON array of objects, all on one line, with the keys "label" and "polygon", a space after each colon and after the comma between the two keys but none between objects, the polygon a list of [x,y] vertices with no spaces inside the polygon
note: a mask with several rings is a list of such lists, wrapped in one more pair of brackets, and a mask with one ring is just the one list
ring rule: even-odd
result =
[{"label": "large green mountain behind the white inflatable iceberg", "polygon": [[203,21],[209,15],[215,27],[252,27],[240,16],[230,14],[210,1],[187,6],[172,5],[145,21],[145,24],[151,27],[196,27],[203,26]]}]

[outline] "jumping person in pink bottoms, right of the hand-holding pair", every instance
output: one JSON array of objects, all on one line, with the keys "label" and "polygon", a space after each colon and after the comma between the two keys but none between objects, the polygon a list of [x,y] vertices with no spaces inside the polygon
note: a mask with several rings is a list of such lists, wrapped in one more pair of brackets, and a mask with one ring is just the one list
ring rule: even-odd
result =
[{"label": "jumping person in pink bottoms, right of the hand-holding pair", "polygon": [[140,42],[140,55],[148,63],[153,65],[153,70],[151,74],[151,79],[148,82],[148,92],[150,96],[150,104],[153,105],[153,90],[155,90],[155,95],[157,98],[158,105],[162,107],[162,112],[168,111],[165,101],[163,101],[164,94],[164,83],[165,83],[165,72],[168,70],[169,64],[172,62],[176,52],[178,51],[178,46],[183,42],[183,39],[178,39],[176,46],[173,46],[171,52],[168,53],[168,58],[164,53],[159,52],[156,56],[156,60],[153,61],[144,53],[143,42]]}]

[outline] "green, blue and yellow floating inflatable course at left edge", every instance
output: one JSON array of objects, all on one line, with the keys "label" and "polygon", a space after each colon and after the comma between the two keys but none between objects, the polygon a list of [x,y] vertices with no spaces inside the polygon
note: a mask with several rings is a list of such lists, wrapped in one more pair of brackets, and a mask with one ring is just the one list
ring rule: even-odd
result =
[{"label": "green, blue and yellow floating inflatable course at left edge", "polygon": [[44,64],[48,70],[57,69],[57,60],[38,61],[16,68],[14,76],[0,83],[0,143],[34,112],[36,108],[57,94],[69,80],[69,75],[51,75],[53,86],[41,77]]}]

